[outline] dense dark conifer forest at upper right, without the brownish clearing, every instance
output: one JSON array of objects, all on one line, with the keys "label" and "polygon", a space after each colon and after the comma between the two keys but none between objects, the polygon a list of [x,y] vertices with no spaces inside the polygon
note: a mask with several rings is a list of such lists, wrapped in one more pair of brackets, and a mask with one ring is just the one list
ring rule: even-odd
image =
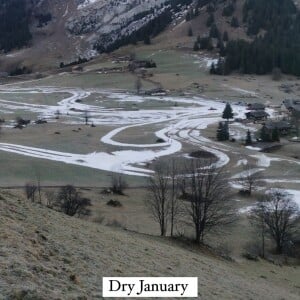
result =
[{"label": "dense dark conifer forest at upper right, without the brownish clearing", "polygon": [[[246,0],[243,23],[252,41],[230,40],[212,73],[267,74],[278,68],[300,76],[300,13],[292,0]],[[214,24],[212,24],[214,26]]]}]

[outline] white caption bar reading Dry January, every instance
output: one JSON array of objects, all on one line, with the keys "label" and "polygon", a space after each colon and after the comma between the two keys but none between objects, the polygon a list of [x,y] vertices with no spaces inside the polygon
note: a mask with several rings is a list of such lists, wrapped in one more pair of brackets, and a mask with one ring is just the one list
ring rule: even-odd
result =
[{"label": "white caption bar reading Dry January", "polygon": [[198,297],[197,277],[104,277],[103,297]]}]

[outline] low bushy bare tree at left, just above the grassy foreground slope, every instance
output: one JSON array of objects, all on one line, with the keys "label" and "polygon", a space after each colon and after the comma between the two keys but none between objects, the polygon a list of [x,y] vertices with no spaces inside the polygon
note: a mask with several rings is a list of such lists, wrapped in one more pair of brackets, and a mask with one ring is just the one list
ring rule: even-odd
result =
[{"label": "low bushy bare tree at left, just above the grassy foreground slope", "polygon": [[81,216],[90,213],[91,200],[81,197],[74,186],[66,185],[60,189],[56,205],[69,216]]}]

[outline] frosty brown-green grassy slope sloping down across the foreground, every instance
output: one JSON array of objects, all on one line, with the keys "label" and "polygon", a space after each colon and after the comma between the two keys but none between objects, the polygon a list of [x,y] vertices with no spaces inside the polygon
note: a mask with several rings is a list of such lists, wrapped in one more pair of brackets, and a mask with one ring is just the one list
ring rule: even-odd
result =
[{"label": "frosty brown-green grassy slope sloping down across the foreground", "polygon": [[5,191],[0,226],[0,299],[99,299],[102,276],[198,276],[201,299],[299,299],[297,269],[225,262],[169,240],[70,218]]}]

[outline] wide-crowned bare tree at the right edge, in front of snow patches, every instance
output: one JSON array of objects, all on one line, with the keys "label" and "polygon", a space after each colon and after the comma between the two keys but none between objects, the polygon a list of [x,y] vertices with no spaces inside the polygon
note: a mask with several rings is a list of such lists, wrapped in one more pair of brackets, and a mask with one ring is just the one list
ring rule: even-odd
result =
[{"label": "wide-crowned bare tree at the right edge, in front of snow patches", "polygon": [[300,222],[299,208],[292,196],[279,189],[272,189],[262,197],[251,215],[259,226],[265,227],[279,254],[283,252],[285,243],[292,239]]}]

